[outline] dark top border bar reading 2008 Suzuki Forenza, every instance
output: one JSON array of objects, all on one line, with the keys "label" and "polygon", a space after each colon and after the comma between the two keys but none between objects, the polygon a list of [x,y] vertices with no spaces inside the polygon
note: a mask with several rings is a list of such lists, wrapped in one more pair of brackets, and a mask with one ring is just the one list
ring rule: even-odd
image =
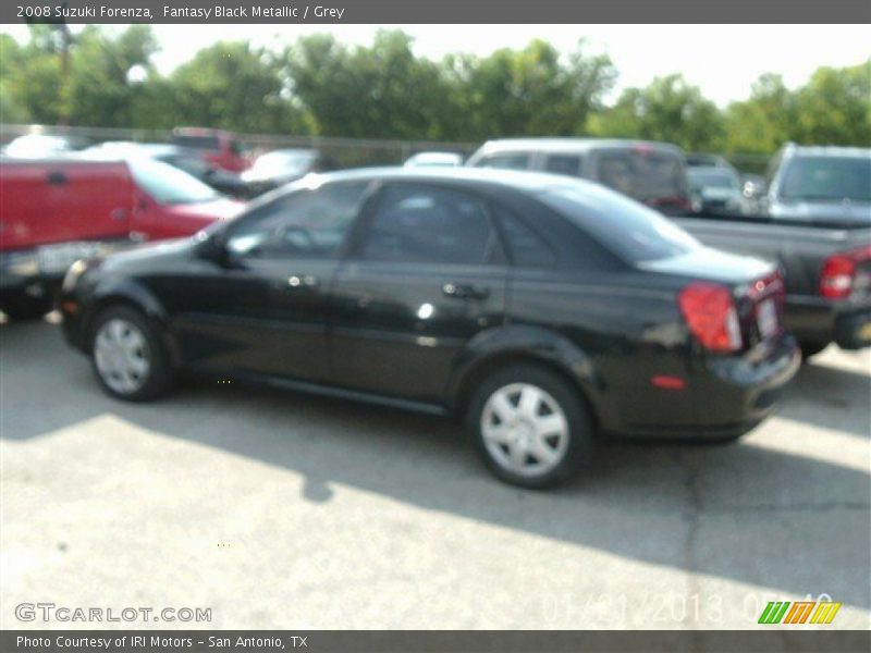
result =
[{"label": "dark top border bar reading 2008 Suzuki Forenza", "polygon": [[[71,24],[871,23],[868,0],[3,0],[0,23],[25,22],[21,8],[50,8],[53,14],[64,4],[76,10],[64,19]],[[246,15],[218,17],[216,5],[244,9]],[[281,11],[257,17],[257,7]],[[341,16],[318,15],[318,7],[341,10]],[[167,15],[164,8],[212,11],[208,17],[185,17]],[[109,10],[139,11],[110,15]]]}]

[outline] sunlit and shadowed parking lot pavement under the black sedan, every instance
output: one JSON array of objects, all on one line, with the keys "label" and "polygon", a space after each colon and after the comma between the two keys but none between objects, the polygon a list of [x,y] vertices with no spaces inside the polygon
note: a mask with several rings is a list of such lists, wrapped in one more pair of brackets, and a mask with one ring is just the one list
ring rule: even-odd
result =
[{"label": "sunlit and shadowed parking lot pavement under the black sedan", "polygon": [[[0,324],[0,627],[15,606],[210,608],[161,628],[871,626],[871,352],[805,366],[728,446],[608,445],[555,492],[450,421],[236,384],[105,396],[50,320]],[[143,626],[134,623],[134,626]]]}]

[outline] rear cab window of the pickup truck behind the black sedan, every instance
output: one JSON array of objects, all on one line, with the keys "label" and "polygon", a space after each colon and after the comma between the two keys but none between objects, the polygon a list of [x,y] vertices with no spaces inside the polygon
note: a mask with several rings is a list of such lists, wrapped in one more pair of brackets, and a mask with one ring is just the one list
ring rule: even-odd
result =
[{"label": "rear cab window of the pickup truck behind the black sedan", "polygon": [[680,158],[654,148],[613,148],[597,157],[598,181],[641,201],[686,197]]}]

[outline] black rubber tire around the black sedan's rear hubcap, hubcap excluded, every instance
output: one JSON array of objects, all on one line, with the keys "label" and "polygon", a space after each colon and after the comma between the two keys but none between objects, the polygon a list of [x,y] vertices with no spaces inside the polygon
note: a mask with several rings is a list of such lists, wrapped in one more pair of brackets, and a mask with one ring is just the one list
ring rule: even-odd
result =
[{"label": "black rubber tire around the black sedan's rear hubcap, hubcap excluded", "polygon": [[[498,391],[518,385],[531,385],[542,390],[554,399],[567,422],[567,446],[554,467],[535,476],[516,473],[503,466],[488,448],[483,433],[484,409]],[[518,398],[519,403],[520,398]],[[547,408],[547,406],[545,406]],[[547,417],[547,415],[544,416]],[[582,396],[576,387],[547,367],[519,364],[502,368],[487,377],[473,392],[465,416],[466,428],[473,436],[475,447],[484,465],[499,479],[523,488],[551,488],[573,478],[589,460],[593,444],[593,420]],[[493,443],[490,447],[493,447]],[[499,445],[503,448],[508,445]],[[507,448],[505,448],[507,455]],[[531,456],[531,454],[530,454]],[[527,458],[529,460],[529,458]]]}]

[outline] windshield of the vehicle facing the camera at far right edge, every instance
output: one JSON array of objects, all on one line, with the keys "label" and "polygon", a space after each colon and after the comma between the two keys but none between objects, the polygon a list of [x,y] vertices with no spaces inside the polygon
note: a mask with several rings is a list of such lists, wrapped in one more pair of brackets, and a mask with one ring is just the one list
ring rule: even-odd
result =
[{"label": "windshield of the vehicle facing the camera at far right edge", "polygon": [[783,199],[871,201],[871,156],[796,157],[788,163]]}]

